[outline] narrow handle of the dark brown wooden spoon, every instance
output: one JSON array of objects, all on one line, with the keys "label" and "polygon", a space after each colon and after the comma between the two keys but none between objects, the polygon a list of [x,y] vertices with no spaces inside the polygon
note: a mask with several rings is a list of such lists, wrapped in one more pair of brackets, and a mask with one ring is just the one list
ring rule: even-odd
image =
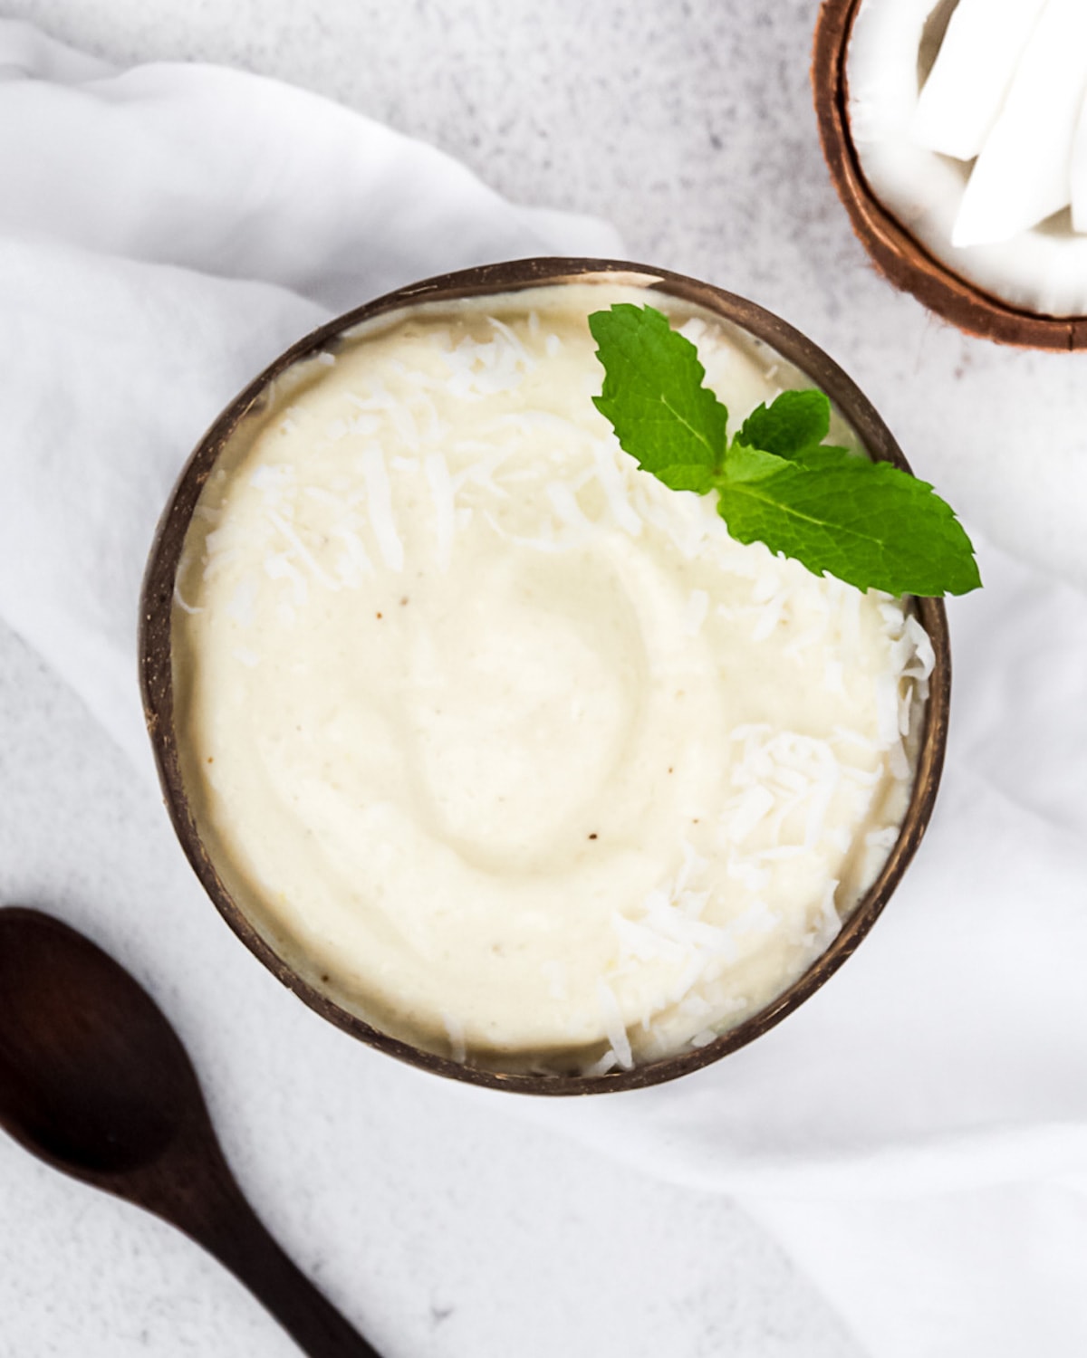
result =
[{"label": "narrow handle of the dark brown wooden spoon", "polygon": [[200,1191],[178,1200],[174,1187],[174,1200],[152,1210],[226,1264],[310,1358],[382,1358],[280,1249],[226,1160],[201,1158]]}]

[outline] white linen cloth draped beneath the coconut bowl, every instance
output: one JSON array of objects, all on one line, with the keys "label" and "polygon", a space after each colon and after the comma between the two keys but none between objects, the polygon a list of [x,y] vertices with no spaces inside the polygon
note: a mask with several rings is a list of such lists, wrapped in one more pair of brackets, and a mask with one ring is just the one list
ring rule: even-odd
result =
[{"label": "white linen cloth draped beneath the coconut bowl", "polygon": [[[139,581],[207,424],[336,311],[549,253],[622,247],[298,90],[0,22],[0,617],[144,773]],[[935,822],[827,987],[643,1093],[448,1086],[739,1195],[875,1358],[1087,1351],[1087,598],[981,564]]]}]

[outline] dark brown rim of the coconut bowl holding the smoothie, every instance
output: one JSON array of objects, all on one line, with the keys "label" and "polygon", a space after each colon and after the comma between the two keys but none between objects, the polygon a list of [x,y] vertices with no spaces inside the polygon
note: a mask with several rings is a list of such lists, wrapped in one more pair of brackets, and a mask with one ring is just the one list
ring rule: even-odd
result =
[{"label": "dark brown rim of the coconut bowl holding the smoothie", "polygon": [[520,259],[511,263],[466,269],[461,273],[444,274],[408,288],[399,288],[321,326],[319,330],[313,331],[276,359],[227,406],[186,463],[159,521],[144,576],[139,642],[144,714],[174,830],[204,889],[250,952],[299,999],[360,1042],[439,1076],[492,1089],[535,1095],[606,1093],[641,1089],[675,1080],[678,1076],[698,1070],[728,1052],[745,1047],[773,1028],[818,990],[856,949],[875,923],[921,841],[932,813],[943,766],[951,684],[947,617],[943,603],[938,599],[919,599],[916,610],[932,641],[935,667],[929,679],[929,697],[917,750],[913,794],[898,839],[875,883],[845,919],[840,934],[826,952],[769,1005],[705,1047],[664,1057],[660,1061],[635,1066],[632,1070],[617,1070],[603,1076],[526,1074],[523,1071],[503,1074],[467,1063],[462,1065],[371,1027],[310,983],[280,952],[273,949],[231,896],[216,872],[197,830],[181,774],[178,737],[174,727],[171,614],[178,562],[201,489],[242,418],[262,407],[269,384],[299,360],[313,357],[330,344],[334,346],[344,331],[352,330],[360,322],[412,303],[446,301],[563,282],[624,282],[643,287],[648,297],[659,291],[670,297],[702,307],[731,322],[768,344],[825,391],[856,430],[874,459],[891,462],[906,471],[909,470],[890,430],[841,368],[799,331],[751,301],[664,269],[649,269],[611,259]]}]

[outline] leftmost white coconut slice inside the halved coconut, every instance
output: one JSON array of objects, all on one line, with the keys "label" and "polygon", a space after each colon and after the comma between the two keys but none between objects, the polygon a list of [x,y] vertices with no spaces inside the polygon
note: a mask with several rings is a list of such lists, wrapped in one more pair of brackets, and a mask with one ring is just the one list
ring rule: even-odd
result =
[{"label": "leftmost white coconut slice inside the halved coconut", "polygon": [[1045,0],[959,0],[921,90],[913,136],[973,160],[997,120]]}]

